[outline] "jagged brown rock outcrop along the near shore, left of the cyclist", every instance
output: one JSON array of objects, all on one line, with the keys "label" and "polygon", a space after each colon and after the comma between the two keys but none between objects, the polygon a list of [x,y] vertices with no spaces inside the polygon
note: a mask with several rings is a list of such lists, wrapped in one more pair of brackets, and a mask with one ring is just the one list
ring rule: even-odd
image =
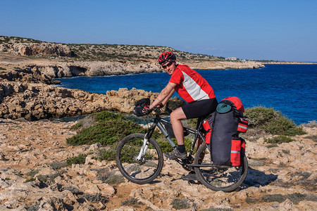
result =
[{"label": "jagged brown rock outcrop along the near shore, left of the cyclist", "polygon": [[[0,75],[0,118],[42,120],[85,115],[101,110],[132,113],[135,102],[154,98],[158,93],[126,88],[94,94],[79,89],[65,89],[52,85],[51,78],[37,68],[16,70]],[[184,104],[175,97],[169,108]]]}]

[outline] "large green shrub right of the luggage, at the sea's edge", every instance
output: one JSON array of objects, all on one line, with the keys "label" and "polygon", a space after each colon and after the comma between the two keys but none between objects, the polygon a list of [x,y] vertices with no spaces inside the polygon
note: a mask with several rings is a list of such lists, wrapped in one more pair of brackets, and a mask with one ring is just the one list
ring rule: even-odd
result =
[{"label": "large green shrub right of the luggage, at the sea's edge", "polygon": [[273,108],[254,107],[247,108],[244,113],[249,120],[250,129],[261,129],[273,135],[294,136],[305,134],[302,127],[296,126],[292,120],[287,119]]}]

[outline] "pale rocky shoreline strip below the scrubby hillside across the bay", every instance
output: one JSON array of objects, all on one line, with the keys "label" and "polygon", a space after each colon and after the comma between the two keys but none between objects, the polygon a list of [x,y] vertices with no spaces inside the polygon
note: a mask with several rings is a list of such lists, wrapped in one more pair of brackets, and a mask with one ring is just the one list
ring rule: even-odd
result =
[{"label": "pale rocky shoreline strip below the scrubby hillside across the bay", "polygon": [[[263,68],[259,62],[230,62],[230,61],[197,61],[180,60],[178,63],[189,65],[194,70],[228,70],[228,69],[259,69]],[[49,59],[35,59],[25,56],[14,56],[0,53],[0,68],[2,72],[9,72],[24,68],[37,68],[49,77],[74,76],[105,76],[127,75],[144,72],[162,72],[154,59],[135,60],[129,63],[118,61],[60,61]]]}]

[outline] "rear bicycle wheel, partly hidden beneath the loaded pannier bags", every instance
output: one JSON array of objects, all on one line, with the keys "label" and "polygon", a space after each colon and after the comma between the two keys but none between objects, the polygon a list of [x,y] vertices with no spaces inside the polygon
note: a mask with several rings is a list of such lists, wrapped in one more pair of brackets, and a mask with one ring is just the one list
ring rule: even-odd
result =
[{"label": "rear bicycle wheel, partly hidden beneath the loaded pannier bags", "polygon": [[[202,156],[203,160],[201,160],[201,153],[205,153]],[[213,191],[235,191],[247,177],[247,157],[243,151],[241,153],[242,165],[240,167],[194,167],[201,184]],[[207,148],[206,143],[199,147],[194,158],[195,165],[201,163],[212,163],[211,152]]]}]

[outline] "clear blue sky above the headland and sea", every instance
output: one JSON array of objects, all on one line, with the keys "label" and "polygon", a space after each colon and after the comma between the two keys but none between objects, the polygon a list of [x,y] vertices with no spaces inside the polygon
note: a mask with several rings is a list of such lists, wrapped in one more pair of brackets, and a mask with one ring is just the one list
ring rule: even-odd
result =
[{"label": "clear blue sky above the headland and sea", "polygon": [[0,0],[0,35],[317,62],[317,1]]}]

